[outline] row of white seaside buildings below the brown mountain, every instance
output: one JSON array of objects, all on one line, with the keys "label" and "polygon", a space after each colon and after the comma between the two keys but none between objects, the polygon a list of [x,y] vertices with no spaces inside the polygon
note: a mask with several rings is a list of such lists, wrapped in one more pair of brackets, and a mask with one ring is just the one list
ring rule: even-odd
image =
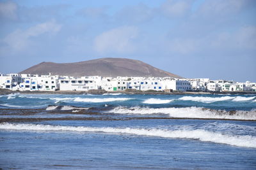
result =
[{"label": "row of white seaside buildings below the brown mountain", "polygon": [[165,92],[255,92],[256,83],[209,78],[172,77],[102,77],[102,76],[58,76],[39,74],[0,74],[0,89],[19,91],[84,91],[106,90],[122,92],[127,89]]}]

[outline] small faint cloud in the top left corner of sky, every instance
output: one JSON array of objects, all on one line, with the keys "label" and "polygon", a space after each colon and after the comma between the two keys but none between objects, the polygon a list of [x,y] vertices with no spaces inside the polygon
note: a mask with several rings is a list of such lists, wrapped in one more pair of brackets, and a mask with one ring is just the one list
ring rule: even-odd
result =
[{"label": "small faint cloud in the top left corner of sky", "polygon": [[17,4],[12,2],[0,3],[0,16],[8,19],[17,18]]}]

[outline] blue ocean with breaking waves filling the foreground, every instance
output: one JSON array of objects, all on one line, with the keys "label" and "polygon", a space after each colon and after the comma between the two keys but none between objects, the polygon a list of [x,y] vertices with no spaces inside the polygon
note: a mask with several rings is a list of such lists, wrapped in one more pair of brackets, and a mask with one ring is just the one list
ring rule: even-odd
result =
[{"label": "blue ocean with breaking waves filling the foreground", "polygon": [[256,169],[256,95],[0,96],[1,169]]}]

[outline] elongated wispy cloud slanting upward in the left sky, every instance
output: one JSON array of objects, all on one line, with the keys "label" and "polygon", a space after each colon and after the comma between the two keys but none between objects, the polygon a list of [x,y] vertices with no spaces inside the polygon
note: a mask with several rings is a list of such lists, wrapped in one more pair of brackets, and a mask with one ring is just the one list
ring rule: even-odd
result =
[{"label": "elongated wispy cloud slanting upward in the left sky", "polygon": [[31,38],[40,36],[44,33],[54,34],[60,31],[61,25],[56,24],[54,20],[37,24],[26,30],[17,29],[8,34],[2,41],[6,43],[12,50],[22,50],[32,43]]}]

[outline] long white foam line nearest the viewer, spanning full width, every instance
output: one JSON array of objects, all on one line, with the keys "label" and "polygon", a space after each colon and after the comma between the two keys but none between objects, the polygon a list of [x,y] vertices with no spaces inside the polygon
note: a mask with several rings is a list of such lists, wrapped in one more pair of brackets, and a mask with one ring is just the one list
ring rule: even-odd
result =
[{"label": "long white foam line nearest the viewer, spanning full width", "polygon": [[134,134],[138,136],[155,136],[161,138],[186,138],[198,139],[199,141],[222,143],[241,147],[256,148],[254,136],[227,135],[218,132],[197,130],[175,130],[166,129],[136,129],[136,128],[114,128],[114,127],[74,127],[61,125],[35,125],[35,124],[0,124],[0,129],[22,130],[22,131],[61,131],[61,132],[104,132],[111,134]]}]

